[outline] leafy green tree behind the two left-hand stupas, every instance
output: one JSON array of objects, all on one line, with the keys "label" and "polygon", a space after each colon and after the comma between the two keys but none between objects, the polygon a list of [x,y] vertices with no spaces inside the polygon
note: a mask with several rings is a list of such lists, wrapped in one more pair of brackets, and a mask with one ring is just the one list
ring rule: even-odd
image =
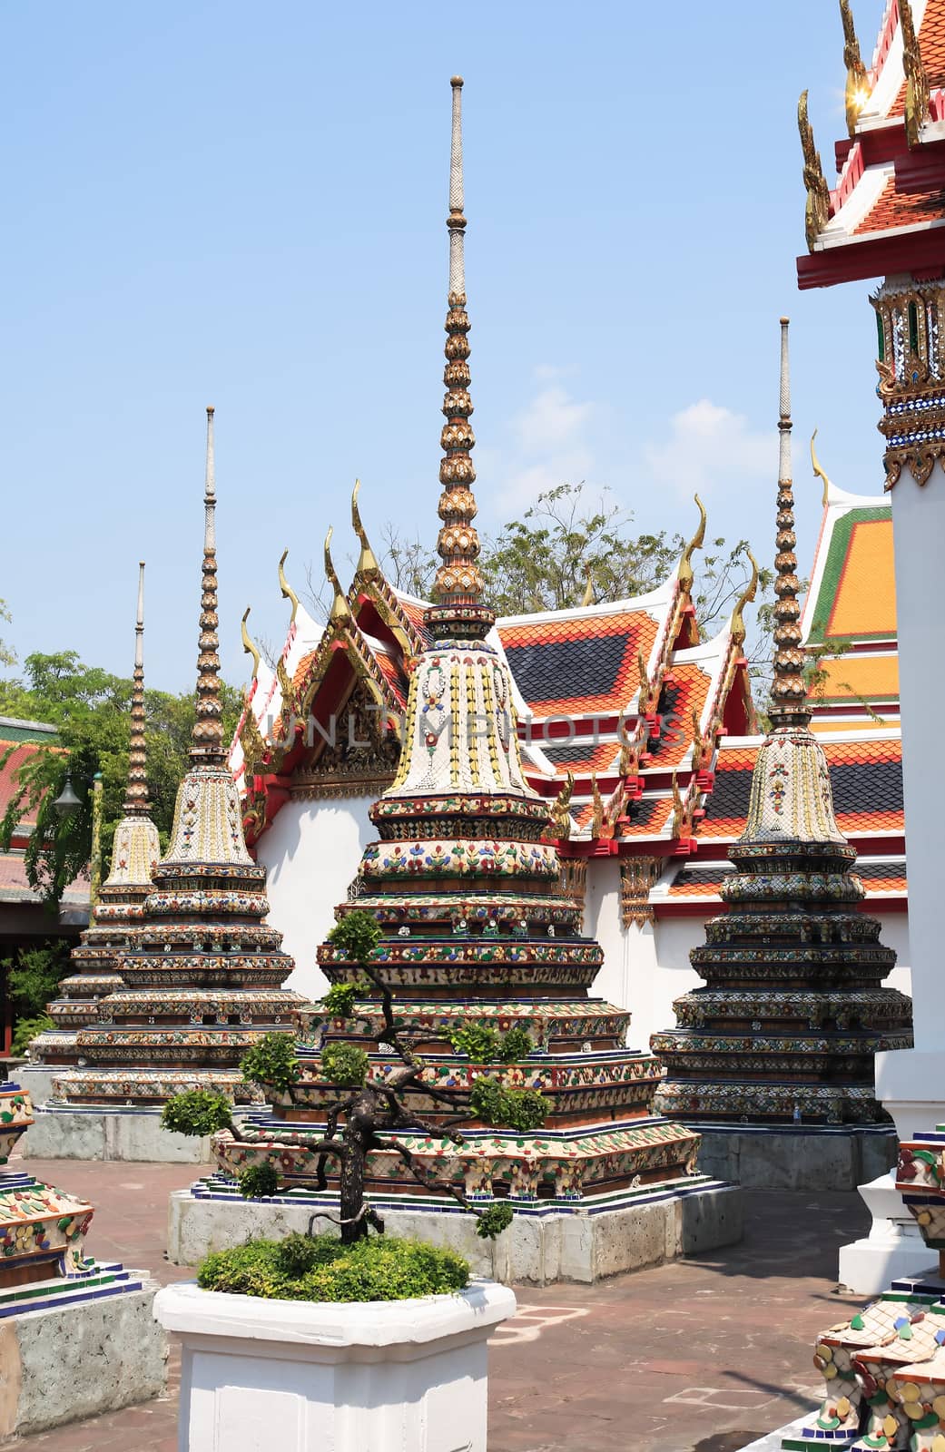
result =
[{"label": "leafy green tree behind the two left-hand stupas", "polygon": [[[58,903],[68,883],[89,865],[90,786],[96,771],[102,772],[102,858],[105,864],[110,858],[128,780],[131,694],[131,680],[86,665],[75,650],[29,655],[23,677],[0,681],[0,714],[48,722],[58,730],[57,743],[39,745],[19,768],[17,788],[0,820],[0,849],[7,851],[20,820],[29,810],[36,812],[26,847],[26,876],[49,905]],[[242,693],[221,682],[221,694],[226,739],[242,710]],[[174,817],[177,784],[187,770],[193,720],[192,694],[145,691],[151,816],[163,847]],[[16,746],[0,756],[0,765],[15,751]],[[54,802],[67,777],[80,806],[61,819]]]}]

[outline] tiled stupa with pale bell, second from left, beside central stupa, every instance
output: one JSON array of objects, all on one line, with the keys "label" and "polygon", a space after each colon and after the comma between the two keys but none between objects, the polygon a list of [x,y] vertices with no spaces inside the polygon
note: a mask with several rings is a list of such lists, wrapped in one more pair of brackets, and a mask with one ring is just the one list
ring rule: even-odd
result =
[{"label": "tiled stupa with pale bell, second from left, beside central stupa", "polygon": [[[190,770],[144,922],[115,960],[122,980],[77,1032],[84,1066],[54,1079],[51,1106],[150,1106],[184,1089],[248,1098],[240,1074],[263,1034],[298,1028],[292,958],[264,919],[266,868],[247,851],[226,768],[219,696],[213,409],[208,408],[203,592]],[[144,765],[144,764],[142,764]],[[142,790],[139,787],[138,790]]]}]

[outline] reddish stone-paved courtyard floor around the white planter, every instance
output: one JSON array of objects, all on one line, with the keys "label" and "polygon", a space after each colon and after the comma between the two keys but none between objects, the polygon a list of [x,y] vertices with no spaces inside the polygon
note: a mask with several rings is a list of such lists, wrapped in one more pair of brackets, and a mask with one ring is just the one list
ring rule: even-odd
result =
[{"label": "reddish stone-paved courtyard floor around the white planter", "polygon": [[[186,1165],[29,1160],[86,1195],[89,1247],[150,1270],[164,1260],[167,1196]],[[858,1302],[836,1294],[838,1246],[868,1215],[854,1194],[749,1192],[746,1236],[717,1256],[605,1281],[518,1291],[492,1342],[489,1452],[736,1452],[817,1395],[817,1330]],[[23,1452],[176,1452],[177,1356],[157,1401],[57,1427]]]}]

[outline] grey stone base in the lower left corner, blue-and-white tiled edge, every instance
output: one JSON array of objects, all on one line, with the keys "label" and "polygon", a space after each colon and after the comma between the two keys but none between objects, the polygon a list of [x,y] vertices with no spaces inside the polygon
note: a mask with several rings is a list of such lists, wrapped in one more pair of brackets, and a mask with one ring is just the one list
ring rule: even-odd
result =
[{"label": "grey stone base in the lower left corner, blue-and-white tiled edge", "polygon": [[[102,1268],[105,1273],[109,1268]],[[46,1301],[0,1318],[0,1439],[26,1436],[148,1401],[164,1390],[167,1339],[154,1320],[157,1284],[119,1268],[105,1285],[23,1286]],[[23,1301],[29,1305],[29,1300]]]}]

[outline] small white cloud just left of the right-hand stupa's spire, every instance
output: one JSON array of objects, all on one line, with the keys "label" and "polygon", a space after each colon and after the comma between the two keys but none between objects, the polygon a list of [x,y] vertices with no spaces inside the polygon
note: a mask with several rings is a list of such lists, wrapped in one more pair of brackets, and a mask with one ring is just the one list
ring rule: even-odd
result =
[{"label": "small white cloud just left of the right-hand stupa's spire", "polygon": [[711,494],[733,481],[771,479],[777,434],[755,431],[743,414],[701,398],[672,415],[666,440],[645,444],[643,459],[655,481],[681,495]]}]

